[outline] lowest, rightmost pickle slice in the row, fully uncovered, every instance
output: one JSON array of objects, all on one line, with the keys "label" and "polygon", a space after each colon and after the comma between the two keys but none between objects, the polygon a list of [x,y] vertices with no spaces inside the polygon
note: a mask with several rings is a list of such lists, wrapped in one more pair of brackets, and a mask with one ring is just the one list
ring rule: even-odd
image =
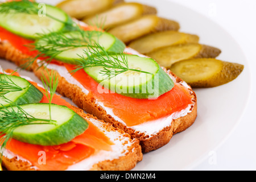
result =
[{"label": "lowest, rightmost pickle slice in the row, fully uncovered", "polygon": [[243,71],[243,65],[212,58],[197,58],[179,61],[170,69],[192,88],[212,88],[236,79]]}]

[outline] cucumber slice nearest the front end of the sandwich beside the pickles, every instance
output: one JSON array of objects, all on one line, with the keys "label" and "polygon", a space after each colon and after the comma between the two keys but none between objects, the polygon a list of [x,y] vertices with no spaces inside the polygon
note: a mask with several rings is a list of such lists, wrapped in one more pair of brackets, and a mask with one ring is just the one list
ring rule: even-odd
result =
[{"label": "cucumber slice nearest the front end of the sandwich beside the pickles", "polygon": [[[122,56],[119,55],[118,59],[121,60]],[[157,98],[174,87],[174,81],[153,59],[127,55],[127,64],[130,69],[152,74],[126,71],[106,79],[106,76],[101,73],[104,71],[103,67],[89,67],[84,70],[104,88],[132,98]]]}]

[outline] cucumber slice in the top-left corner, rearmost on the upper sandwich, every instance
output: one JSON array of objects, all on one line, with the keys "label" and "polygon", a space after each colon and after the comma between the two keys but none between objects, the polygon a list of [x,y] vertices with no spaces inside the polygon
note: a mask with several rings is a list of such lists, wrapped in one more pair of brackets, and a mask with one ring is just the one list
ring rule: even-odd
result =
[{"label": "cucumber slice in the top-left corner, rearmost on the upper sandwich", "polygon": [[[0,4],[0,10],[1,6],[6,5],[6,3]],[[38,3],[32,4],[38,9],[38,14],[30,13],[30,9],[28,9],[27,13],[17,13],[19,10],[11,9],[15,6],[13,5],[10,6],[11,10],[9,10],[9,13],[0,13],[0,26],[27,39],[36,39],[37,33],[47,34],[47,32],[57,32],[65,28],[65,22],[69,21],[69,16],[63,10],[51,5],[43,4],[41,6]],[[50,16],[54,17],[54,19],[50,18]]]}]

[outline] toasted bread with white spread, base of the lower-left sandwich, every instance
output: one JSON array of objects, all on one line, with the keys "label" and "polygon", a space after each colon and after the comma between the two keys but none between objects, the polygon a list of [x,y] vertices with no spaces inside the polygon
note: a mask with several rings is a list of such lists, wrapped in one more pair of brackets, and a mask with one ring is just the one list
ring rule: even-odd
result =
[{"label": "toasted bread with white spread, base of the lower-left sandwich", "polygon": [[[141,146],[137,139],[131,139],[130,135],[123,130],[116,129],[93,115],[85,114],[83,110],[75,106],[71,107],[77,114],[100,129],[106,137],[109,137],[113,145],[111,146],[111,151],[96,151],[89,158],[72,164],[67,170],[123,171],[133,169],[142,160]],[[7,149],[3,152],[2,164],[7,170],[11,171],[39,170],[37,167],[32,166],[29,159],[24,159]]]}]

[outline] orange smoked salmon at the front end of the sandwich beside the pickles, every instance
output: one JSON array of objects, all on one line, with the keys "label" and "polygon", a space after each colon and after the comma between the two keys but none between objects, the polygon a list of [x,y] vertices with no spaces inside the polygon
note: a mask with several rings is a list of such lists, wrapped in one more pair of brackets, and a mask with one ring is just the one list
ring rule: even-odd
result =
[{"label": "orange smoked salmon at the front end of the sandwich beside the pickles", "polygon": [[[75,69],[75,65],[64,65],[68,71]],[[180,84],[175,84],[172,90],[155,100],[148,100],[110,92],[94,81],[83,69],[73,74],[73,77],[89,90],[93,97],[103,102],[104,106],[112,108],[113,113],[121,118],[127,126],[139,125],[152,119],[171,115],[192,104],[189,90]]]}]

